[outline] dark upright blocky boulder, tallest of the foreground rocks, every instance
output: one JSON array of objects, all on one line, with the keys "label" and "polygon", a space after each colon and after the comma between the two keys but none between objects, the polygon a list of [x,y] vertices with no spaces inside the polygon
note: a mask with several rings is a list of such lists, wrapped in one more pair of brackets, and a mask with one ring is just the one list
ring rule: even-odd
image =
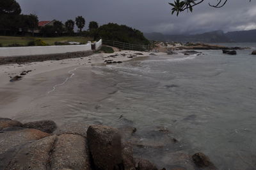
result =
[{"label": "dark upright blocky boulder, tallest of the foreground rocks", "polygon": [[87,130],[87,139],[97,169],[113,170],[122,164],[121,137],[116,128],[92,125]]}]

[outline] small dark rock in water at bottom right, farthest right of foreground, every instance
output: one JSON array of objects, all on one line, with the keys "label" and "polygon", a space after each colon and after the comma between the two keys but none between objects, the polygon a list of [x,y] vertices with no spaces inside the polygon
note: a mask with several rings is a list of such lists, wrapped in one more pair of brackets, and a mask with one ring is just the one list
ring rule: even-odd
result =
[{"label": "small dark rock in water at bottom right, farthest right of foreground", "polygon": [[204,155],[204,153],[195,153],[193,156],[193,162],[196,164],[196,166],[198,167],[209,167],[211,169],[216,169],[216,167],[214,166],[214,164],[212,164],[211,160],[209,159],[209,157],[207,157],[206,155]]}]

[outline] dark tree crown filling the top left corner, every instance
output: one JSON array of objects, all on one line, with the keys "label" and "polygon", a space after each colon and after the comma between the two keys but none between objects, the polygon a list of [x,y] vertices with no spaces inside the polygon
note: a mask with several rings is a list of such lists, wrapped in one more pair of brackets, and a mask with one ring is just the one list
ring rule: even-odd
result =
[{"label": "dark tree crown filling the top left corner", "polygon": [[0,15],[19,15],[21,8],[19,3],[15,0],[1,0],[0,1]]}]

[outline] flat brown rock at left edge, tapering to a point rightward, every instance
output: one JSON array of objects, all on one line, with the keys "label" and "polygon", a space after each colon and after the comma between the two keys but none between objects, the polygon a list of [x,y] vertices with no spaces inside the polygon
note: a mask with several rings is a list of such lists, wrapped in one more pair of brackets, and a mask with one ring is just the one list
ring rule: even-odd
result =
[{"label": "flat brown rock at left edge, tapering to a point rightward", "polygon": [[50,134],[36,129],[24,129],[0,133],[0,154],[15,146],[42,139]]}]

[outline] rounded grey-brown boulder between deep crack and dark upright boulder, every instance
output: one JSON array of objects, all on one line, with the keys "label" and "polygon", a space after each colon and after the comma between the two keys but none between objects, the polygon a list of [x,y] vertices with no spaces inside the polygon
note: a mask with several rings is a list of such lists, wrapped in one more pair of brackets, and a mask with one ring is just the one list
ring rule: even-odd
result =
[{"label": "rounded grey-brown boulder between deep crack and dark upright boulder", "polygon": [[86,139],[81,135],[73,134],[58,136],[51,155],[51,168],[91,169]]}]

